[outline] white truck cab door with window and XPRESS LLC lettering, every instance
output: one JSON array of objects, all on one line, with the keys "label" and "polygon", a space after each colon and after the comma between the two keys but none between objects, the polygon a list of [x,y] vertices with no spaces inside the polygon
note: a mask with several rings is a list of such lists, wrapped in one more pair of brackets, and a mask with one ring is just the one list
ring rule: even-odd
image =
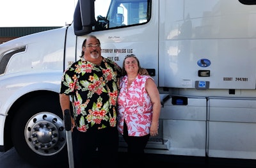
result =
[{"label": "white truck cab door with window and XPRESS LLC lettering", "polygon": [[[90,34],[99,38],[102,56],[122,66],[125,56],[135,54],[158,84],[159,1],[152,3],[148,0],[97,0],[94,3],[95,26]],[[77,50],[84,38],[86,36],[77,36]]]}]

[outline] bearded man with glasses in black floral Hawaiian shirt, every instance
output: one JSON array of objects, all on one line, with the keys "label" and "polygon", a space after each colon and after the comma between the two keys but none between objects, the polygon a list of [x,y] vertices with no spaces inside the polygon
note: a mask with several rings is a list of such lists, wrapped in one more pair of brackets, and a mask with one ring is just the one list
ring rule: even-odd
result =
[{"label": "bearded man with glasses in black floral Hawaiian shirt", "polygon": [[[75,167],[117,167],[116,100],[121,68],[101,56],[100,41],[88,36],[81,59],[61,79],[61,109],[70,109]],[[75,128],[76,127],[76,128]],[[94,160],[95,156],[98,156]]]}]

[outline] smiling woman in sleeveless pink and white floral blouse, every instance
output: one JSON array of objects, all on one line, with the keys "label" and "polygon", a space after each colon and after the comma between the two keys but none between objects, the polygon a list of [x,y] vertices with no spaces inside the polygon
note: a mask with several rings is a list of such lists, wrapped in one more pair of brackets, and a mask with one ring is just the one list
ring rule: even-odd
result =
[{"label": "smiling woman in sleeveless pink and white floral blouse", "polygon": [[161,102],[157,86],[149,75],[140,75],[138,58],[125,57],[118,95],[118,131],[127,143],[131,160],[141,158],[151,136],[158,134]]}]

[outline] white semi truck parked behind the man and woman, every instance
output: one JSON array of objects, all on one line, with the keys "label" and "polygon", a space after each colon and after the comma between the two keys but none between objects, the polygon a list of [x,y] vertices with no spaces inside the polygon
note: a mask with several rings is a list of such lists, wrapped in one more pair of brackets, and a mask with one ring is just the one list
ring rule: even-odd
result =
[{"label": "white semi truck parked behind the man and woman", "polygon": [[256,160],[254,0],[79,0],[70,26],[1,44],[1,151],[67,164],[58,93],[88,34],[120,66],[136,54],[156,81],[159,135],[147,153]]}]

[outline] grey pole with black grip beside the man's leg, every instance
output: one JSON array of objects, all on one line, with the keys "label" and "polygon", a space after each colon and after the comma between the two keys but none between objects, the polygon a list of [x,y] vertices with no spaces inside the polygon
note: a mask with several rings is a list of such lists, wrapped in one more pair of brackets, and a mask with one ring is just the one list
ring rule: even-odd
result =
[{"label": "grey pole with black grip beside the man's leg", "polygon": [[72,132],[71,132],[71,115],[70,111],[66,109],[64,111],[64,125],[66,130],[67,148],[68,148],[68,164],[69,168],[74,168],[74,157],[73,157],[73,144],[72,144]]}]

